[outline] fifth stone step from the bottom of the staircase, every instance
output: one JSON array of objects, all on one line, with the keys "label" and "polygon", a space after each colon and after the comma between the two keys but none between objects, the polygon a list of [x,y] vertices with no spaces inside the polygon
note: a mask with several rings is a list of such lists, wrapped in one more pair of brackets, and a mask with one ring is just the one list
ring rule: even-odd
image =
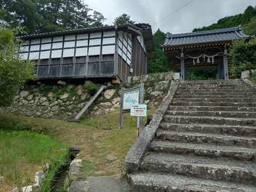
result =
[{"label": "fifth stone step from the bottom of the staircase", "polygon": [[227,134],[232,136],[256,137],[256,127],[235,125],[205,125],[205,124],[169,124],[162,122],[159,131],[181,131],[211,134]]}]

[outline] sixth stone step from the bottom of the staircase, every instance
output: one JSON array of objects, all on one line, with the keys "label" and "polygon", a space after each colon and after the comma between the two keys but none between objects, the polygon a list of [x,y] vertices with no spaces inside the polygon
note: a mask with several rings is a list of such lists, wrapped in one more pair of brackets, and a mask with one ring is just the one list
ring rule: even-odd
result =
[{"label": "sixth stone step from the bottom of the staircase", "polygon": [[210,125],[236,125],[236,126],[256,126],[255,118],[224,118],[212,116],[176,116],[164,115],[163,122],[175,124],[210,124]]}]

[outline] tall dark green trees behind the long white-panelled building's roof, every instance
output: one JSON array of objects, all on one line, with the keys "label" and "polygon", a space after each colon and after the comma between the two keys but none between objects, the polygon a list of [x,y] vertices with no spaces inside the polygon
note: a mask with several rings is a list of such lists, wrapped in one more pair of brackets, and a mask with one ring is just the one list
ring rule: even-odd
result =
[{"label": "tall dark green trees behind the long white-panelled building's roof", "polygon": [[0,19],[16,28],[25,27],[28,34],[81,29],[102,26],[106,20],[99,12],[93,12],[82,0],[3,0],[0,3]]}]

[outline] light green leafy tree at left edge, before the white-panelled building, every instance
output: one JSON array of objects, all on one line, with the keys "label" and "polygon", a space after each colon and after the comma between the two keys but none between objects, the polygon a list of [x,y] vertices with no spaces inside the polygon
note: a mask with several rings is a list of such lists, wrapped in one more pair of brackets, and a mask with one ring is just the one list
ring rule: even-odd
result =
[{"label": "light green leafy tree at left edge, before the white-panelled building", "polygon": [[12,104],[19,88],[28,79],[35,79],[35,63],[22,60],[19,39],[11,29],[0,25],[0,106]]}]

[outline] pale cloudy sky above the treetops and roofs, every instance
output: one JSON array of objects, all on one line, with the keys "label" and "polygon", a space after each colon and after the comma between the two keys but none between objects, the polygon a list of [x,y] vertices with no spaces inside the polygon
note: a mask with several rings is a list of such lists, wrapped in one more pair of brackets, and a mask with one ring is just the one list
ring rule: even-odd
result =
[{"label": "pale cloudy sky above the treetops and roofs", "polygon": [[104,24],[122,13],[131,16],[136,23],[147,23],[155,33],[189,33],[216,23],[219,19],[243,13],[248,6],[256,6],[255,0],[83,0],[89,8],[102,13]]}]

